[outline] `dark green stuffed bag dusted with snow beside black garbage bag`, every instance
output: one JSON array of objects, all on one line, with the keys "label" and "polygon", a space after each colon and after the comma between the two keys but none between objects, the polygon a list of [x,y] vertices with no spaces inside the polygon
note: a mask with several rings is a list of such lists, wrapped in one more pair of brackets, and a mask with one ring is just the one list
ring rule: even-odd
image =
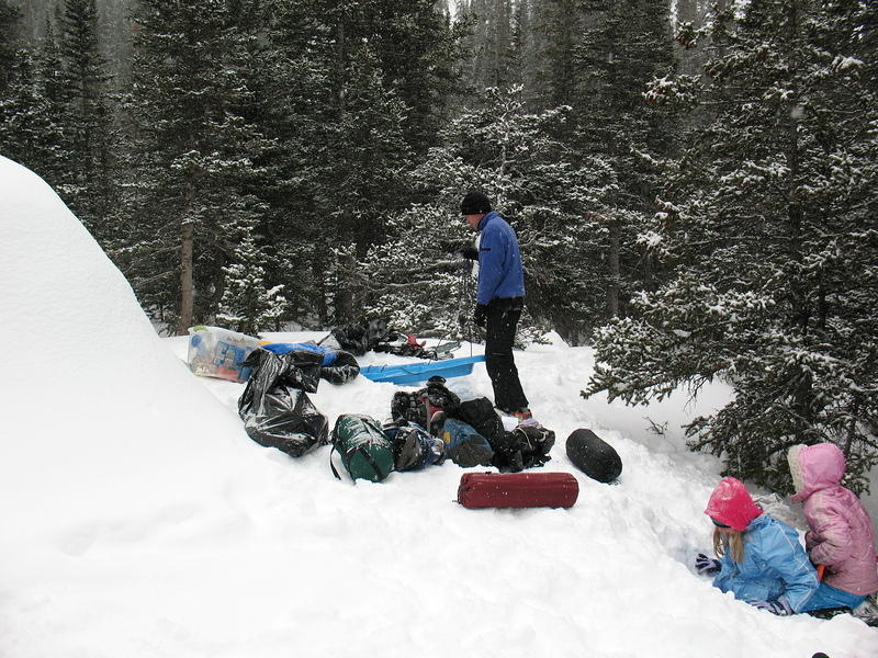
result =
[{"label": "dark green stuffed bag dusted with snow beside black garbage bag", "polygon": [[[333,428],[333,452],[338,451],[350,477],[380,483],[393,470],[393,446],[381,431],[381,424],[368,416],[342,413]],[[341,477],[333,464],[329,466],[338,479]]]}]

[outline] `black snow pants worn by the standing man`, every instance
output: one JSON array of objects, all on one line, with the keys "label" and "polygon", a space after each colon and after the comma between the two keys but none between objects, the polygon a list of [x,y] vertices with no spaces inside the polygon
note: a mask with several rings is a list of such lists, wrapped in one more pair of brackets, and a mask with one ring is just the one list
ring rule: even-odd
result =
[{"label": "black snow pants worn by the standing man", "polygon": [[494,405],[508,412],[528,406],[513,358],[513,342],[524,308],[521,297],[496,298],[487,305],[485,367],[494,387]]}]

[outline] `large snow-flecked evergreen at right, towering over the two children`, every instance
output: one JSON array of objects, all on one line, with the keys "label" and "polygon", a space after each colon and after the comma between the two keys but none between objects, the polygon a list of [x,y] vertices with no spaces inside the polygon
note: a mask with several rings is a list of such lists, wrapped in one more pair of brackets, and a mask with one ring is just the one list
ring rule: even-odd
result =
[{"label": "large snow-flecked evergreen at right, towering over the two children", "polygon": [[878,462],[876,12],[753,0],[706,31],[709,80],[655,80],[656,102],[711,121],[668,163],[650,236],[673,280],[596,339],[587,394],[729,382],[733,401],[688,427],[690,445],[776,490],[795,443],[837,443],[854,489]]}]

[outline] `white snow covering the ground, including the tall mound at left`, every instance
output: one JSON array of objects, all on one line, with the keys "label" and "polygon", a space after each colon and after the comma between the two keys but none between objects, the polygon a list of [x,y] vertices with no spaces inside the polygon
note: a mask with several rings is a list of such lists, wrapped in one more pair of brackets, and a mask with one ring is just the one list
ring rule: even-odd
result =
[{"label": "white snow covering the ground, including the tall mound at left", "polygon": [[[0,656],[878,655],[849,615],[776,617],[693,572],[720,465],[680,450],[679,424],[722,387],[694,406],[586,401],[589,350],[554,340],[517,360],[558,436],[547,468],[579,481],[572,509],[465,510],[450,463],[338,481],[328,447],[293,460],[250,441],[243,386],[193,376],[185,339],[158,338],[57,196],[2,158],[0,198]],[[449,386],[491,394],[482,365]],[[311,397],[334,423],[383,419],[394,390],[358,378]],[[566,460],[581,427],[620,453],[617,486]]]}]

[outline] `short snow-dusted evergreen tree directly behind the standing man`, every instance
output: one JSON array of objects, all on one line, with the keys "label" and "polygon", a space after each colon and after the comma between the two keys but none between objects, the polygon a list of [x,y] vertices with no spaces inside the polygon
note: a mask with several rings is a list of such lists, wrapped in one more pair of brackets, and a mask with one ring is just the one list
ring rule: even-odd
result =
[{"label": "short snow-dusted evergreen tree directly behind the standing man", "polygon": [[458,208],[468,190],[481,188],[518,232],[530,325],[548,321],[579,340],[592,313],[588,240],[600,230],[594,217],[606,211],[615,181],[599,160],[575,167],[572,154],[549,137],[564,118],[560,110],[528,113],[518,87],[486,90],[482,106],[453,121],[441,134],[444,146],[431,149],[413,174],[416,189],[434,201],[394,220],[393,238],[365,259],[363,281],[374,299],[368,308],[421,333],[463,330],[458,314],[471,310],[464,297],[473,291],[448,246],[472,239]]}]

